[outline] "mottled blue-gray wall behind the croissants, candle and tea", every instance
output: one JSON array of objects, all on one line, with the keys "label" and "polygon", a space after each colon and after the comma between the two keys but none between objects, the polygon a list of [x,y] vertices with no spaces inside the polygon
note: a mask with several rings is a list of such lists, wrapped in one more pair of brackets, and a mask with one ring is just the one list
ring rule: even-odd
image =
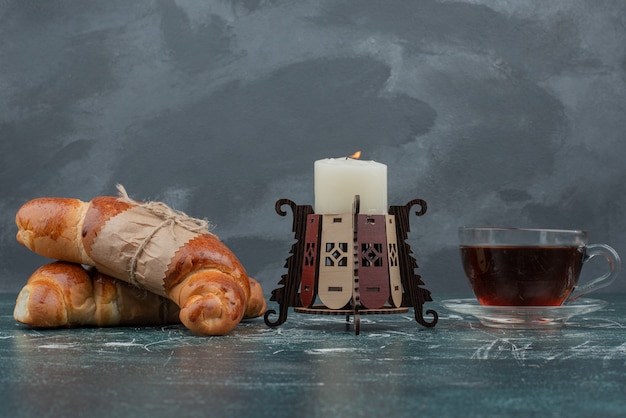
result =
[{"label": "mottled blue-gray wall behind the croissants, candle and tea", "polygon": [[47,262],[15,241],[22,203],[121,183],[210,220],[269,294],[275,202],[313,204],[313,162],[356,150],[390,204],[428,202],[409,243],[435,298],[469,292],[459,225],[626,256],[625,132],[619,0],[0,1],[0,291]]}]

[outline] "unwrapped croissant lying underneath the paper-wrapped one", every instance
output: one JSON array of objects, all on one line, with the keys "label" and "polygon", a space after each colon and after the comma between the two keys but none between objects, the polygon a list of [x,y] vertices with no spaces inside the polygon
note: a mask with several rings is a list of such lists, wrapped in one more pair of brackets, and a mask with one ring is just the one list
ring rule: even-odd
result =
[{"label": "unwrapped croissant lying underneath the paper-wrapped one", "polygon": [[56,261],[30,276],[13,317],[34,328],[148,326],[180,323],[178,312],[169,299],[96,269]]}]

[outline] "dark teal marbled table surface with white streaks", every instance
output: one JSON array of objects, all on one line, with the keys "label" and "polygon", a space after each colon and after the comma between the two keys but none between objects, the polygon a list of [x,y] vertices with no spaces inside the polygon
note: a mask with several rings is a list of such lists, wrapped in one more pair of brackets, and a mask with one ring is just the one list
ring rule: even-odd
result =
[{"label": "dark teal marbled table surface with white streaks", "polygon": [[608,305],[549,330],[485,327],[439,297],[425,305],[433,328],[412,312],[367,315],[356,335],[343,317],[291,311],[276,328],[258,318],[198,337],[177,325],[33,330],[2,294],[0,415],[621,416],[626,295],[597,297]]}]

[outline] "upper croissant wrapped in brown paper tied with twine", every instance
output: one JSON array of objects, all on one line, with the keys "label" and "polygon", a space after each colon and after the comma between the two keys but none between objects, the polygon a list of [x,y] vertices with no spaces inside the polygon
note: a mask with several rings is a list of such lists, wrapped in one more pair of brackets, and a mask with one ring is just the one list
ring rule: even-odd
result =
[{"label": "upper croissant wrapped in brown paper tied with twine", "polygon": [[90,202],[39,198],[25,203],[15,217],[18,242],[170,299],[180,308],[181,322],[200,335],[225,335],[244,314],[262,314],[260,285],[251,292],[245,269],[206,222],[160,202],[136,202],[118,188],[120,197]]}]

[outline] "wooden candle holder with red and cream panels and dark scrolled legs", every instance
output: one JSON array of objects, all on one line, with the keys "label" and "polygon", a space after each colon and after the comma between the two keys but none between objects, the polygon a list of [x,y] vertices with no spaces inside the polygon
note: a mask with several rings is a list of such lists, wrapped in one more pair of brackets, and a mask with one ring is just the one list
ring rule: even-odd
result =
[{"label": "wooden candle holder with red and cream panels and dark scrolled legs", "polygon": [[360,198],[354,198],[352,213],[315,214],[310,205],[296,205],[289,199],[276,202],[276,212],[287,215],[282,207],[293,212],[293,232],[296,242],[285,267],[287,274],[278,282],[282,287],[272,291],[270,300],[278,302],[276,311],[265,312],[269,327],[287,320],[289,307],[295,312],[354,317],[354,330],[360,332],[360,315],[406,313],[415,311],[415,320],[434,327],[438,314],[427,321],[423,305],[432,301],[430,291],[415,274],[417,263],[406,243],[411,207],[419,205],[417,216],[426,213],[426,202],[411,200],[404,206],[391,206],[388,215],[359,213]]}]

